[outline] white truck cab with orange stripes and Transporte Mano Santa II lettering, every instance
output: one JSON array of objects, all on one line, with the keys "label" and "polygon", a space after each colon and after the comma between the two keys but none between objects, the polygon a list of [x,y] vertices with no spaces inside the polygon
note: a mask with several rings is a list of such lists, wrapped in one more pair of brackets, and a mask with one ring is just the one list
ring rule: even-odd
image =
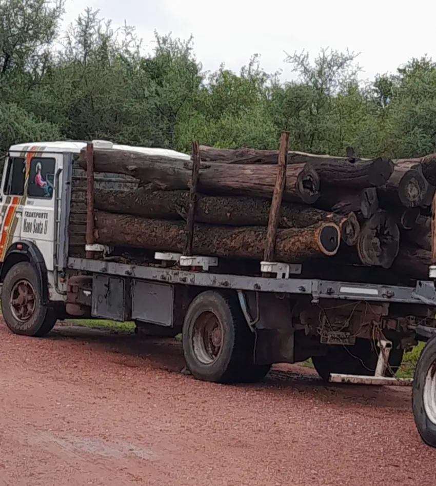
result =
[{"label": "white truck cab with orange stripes and Transporte Mano Santa II lettering", "polygon": [[[190,159],[173,150],[129,147],[105,140],[94,140],[93,145]],[[13,145],[7,154],[0,188],[0,278],[5,288],[12,267],[12,273],[18,272],[9,289],[10,297],[2,292],[5,320],[15,321],[14,332],[21,329],[23,334],[34,334],[29,316],[38,304],[50,307],[50,303],[66,300],[67,283],[60,275],[67,267],[64,249],[68,247],[69,185],[73,160],[85,147],[82,141],[37,142]],[[23,269],[28,275],[19,278]]]}]

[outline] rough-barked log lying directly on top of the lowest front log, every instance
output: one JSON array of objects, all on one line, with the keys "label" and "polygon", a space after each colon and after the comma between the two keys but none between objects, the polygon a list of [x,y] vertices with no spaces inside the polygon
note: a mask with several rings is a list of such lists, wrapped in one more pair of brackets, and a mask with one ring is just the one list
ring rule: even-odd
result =
[{"label": "rough-barked log lying directly on top of the lowest front log", "polygon": [[[144,188],[133,193],[96,189],[94,207],[100,211],[129,214],[151,219],[186,219],[187,191],[154,191]],[[270,203],[260,197],[198,195],[195,221],[220,226],[267,226]],[[279,228],[304,228],[323,220],[340,226],[342,240],[355,245],[360,233],[359,221],[353,212],[336,214],[328,211],[282,202]]]}]

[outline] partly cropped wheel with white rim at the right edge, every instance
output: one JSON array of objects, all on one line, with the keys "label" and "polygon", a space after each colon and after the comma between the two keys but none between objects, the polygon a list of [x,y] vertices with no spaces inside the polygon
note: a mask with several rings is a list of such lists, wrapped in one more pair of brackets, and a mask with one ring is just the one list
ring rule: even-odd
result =
[{"label": "partly cropped wheel with white rim at the right edge", "polygon": [[436,336],[427,341],[415,368],[412,409],[422,440],[436,448]]}]

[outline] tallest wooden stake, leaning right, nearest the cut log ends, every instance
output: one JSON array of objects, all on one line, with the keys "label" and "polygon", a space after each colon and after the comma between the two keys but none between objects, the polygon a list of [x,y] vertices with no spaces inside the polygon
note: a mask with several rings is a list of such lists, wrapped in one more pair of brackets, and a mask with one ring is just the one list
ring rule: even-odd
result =
[{"label": "tallest wooden stake, leaning right, nearest the cut log ends", "polygon": [[274,261],[275,237],[280,220],[280,207],[282,205],[283,190],[286,184],[287,151],[289,132],[282,132],[279,148],[279,163],[275,179],[274,192],[272,194],[269,211],[268,228],[265,242],[264,261]]}]

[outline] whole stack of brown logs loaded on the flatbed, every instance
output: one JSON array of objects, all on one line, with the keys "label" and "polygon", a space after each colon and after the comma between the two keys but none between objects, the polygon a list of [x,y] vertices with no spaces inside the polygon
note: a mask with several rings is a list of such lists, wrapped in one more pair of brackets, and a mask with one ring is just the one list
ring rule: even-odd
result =
[{"label": "whole stack of brown logs loaded on the flatbed", "polygon": [[[348,269],[356,279],[356,268],[374,267],[385,275],[389,269],[398,283],[427,278],[436,155],[390,160],[360,159],[350,148],[345,157],[289,152],[284,134],[281,149],[193,144],[191,160],[184,160],[94,147],[95,172],[133,176],[138,188],[95,188],[93,239],[232,259],[259,261],[267,253],[269,261],[305,263],[313,276],[326,268],[330,279],[332,271],[347,278]],[[80,165],[87,167],[85,149]],[[187,219],[194,221],[190,237]]]}]

